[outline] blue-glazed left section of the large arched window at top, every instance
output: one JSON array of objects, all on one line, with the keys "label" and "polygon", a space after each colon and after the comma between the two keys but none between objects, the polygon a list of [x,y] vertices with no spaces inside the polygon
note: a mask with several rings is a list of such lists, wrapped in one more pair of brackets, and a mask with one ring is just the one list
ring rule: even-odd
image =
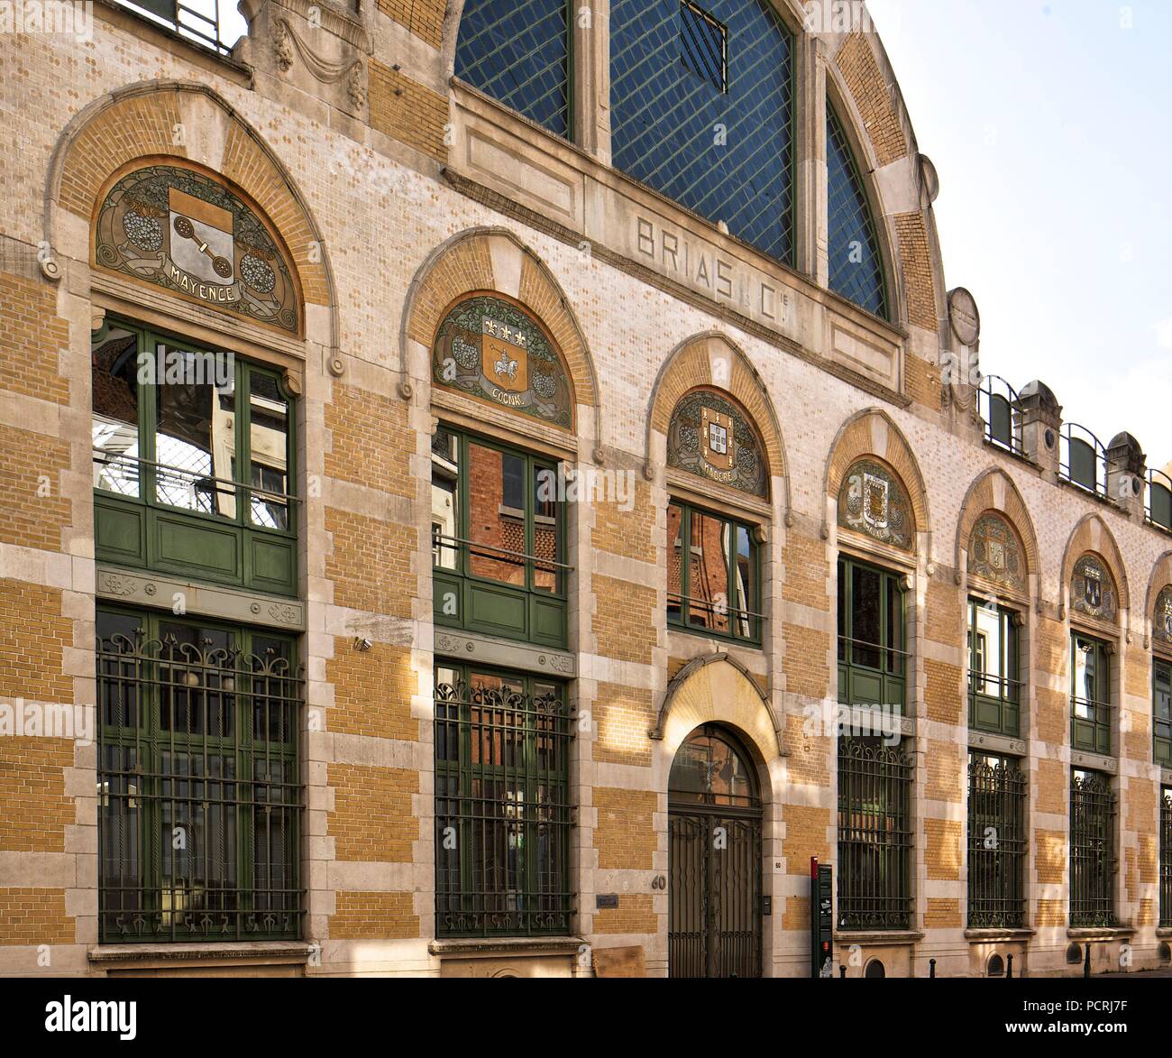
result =
[{"label": "blue-glazed left section of the large arched window at top", "polygon": [[570,135],[567,0],[468,0],[456,76],[558,136]]}]

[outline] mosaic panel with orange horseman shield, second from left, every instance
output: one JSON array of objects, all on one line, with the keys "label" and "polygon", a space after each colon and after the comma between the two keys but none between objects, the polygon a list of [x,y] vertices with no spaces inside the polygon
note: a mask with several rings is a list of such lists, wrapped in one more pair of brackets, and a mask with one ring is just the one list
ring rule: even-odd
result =
[{"label": "mosaic panel with orange horseman shield, second from left", "polygon": [[573,428],[573,391],[558,354],[509,301],[477,294],[456,305],[440,325],[431,369],[437,385]]}]

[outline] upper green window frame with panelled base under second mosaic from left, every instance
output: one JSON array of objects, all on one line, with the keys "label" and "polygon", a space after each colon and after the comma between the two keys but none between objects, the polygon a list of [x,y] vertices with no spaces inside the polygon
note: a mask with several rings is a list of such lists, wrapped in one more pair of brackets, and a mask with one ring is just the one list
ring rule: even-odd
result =
[{"label": "upper green window frame with panelled base under second mosaic from left", "polygon": [[[450,446],[450,447],[449,447]],[[502,520],[523,523],[523,547],[503,548],[473,542],[471,525],[471,448],[488,449],[520,464],[517,477],[500,481]],[[451,456],[455,455],[455,459]],[[564,649],[568,642],[567,589],[571,568],[565,563],[566,515],[558,462],[490,438],[441,425],[431,441],[432,486],[432,609],[436,624],[484,632],[540,646]],[[513,490],[512,495],[506,489]],[[452,497],[456,510],[440,515],[437,506]],[[506,503],[505,501],[510,502]],[[538,510],[541,506],[543,511]],[[448,521],[445,522],[445,518]],[[502,525],[504,521],[502,521]],[[455,528],[455,533],[444,531]],[[539,530],[553,533],[552,555],[537,554]],[[496,562],[522,571],[523,583],[485,576],[476,567]],[[550,588],[540,581],[552,581]]]}]

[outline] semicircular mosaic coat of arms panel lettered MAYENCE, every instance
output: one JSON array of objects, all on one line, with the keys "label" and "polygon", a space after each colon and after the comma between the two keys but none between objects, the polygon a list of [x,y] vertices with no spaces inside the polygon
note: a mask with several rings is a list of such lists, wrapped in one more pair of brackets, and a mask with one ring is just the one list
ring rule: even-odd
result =
[{"label": "semicircular mosaic coat of arms panel lettered MAYENCE", "polygon": [[293,276],[265,223],[202,172],[148,165],[123,176],[98,210],[94,262],[213,308],[299,333]]}]

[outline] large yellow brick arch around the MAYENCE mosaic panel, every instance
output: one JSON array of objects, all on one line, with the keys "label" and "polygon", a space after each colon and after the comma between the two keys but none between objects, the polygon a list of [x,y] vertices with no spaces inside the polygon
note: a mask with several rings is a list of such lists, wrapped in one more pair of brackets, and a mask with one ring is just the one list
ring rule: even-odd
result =
[{"label": "large yellow brick arch around the MAYENCE mosaic panel", "polygon": [[206,84],[144,81],[101,96],[74,116],[49,161],[49,245],[55,245],[59,211],[89,224],[113,174],[139,158],[166,157],[223,176],[257,204],[288,249],[302,300],[332,310],[331,344],[336,348],[338,299],[321,229],[280,158]]}]

